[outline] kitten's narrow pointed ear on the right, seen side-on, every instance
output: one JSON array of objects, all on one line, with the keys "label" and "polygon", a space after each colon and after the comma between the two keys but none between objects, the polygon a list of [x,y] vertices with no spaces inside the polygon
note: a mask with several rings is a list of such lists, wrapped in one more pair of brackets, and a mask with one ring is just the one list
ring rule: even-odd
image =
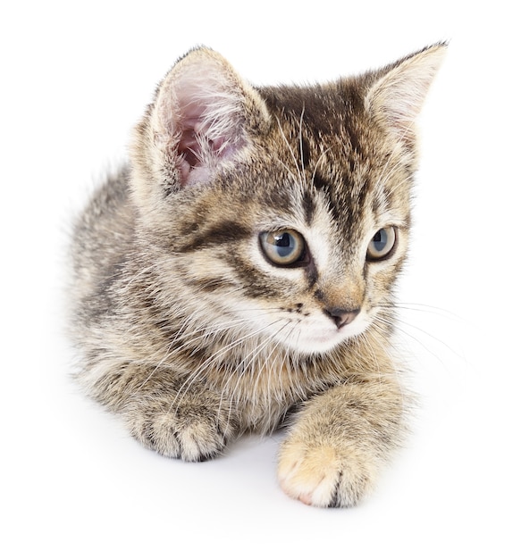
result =
[{"label": "kitten's narrow pointed ear on the right, seen side-on", "polygon": [[366,95],[366,108],[405,142],[414,140],[415,121],[447,45],[424,48],[384,68]]}]

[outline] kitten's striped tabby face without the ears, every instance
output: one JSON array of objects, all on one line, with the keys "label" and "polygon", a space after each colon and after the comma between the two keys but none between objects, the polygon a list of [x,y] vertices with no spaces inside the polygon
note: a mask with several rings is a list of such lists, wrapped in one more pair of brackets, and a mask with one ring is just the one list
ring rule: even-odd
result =
[{"label": "kitten's striped tabby face without the ears", "polygon": [[410,177],[399,149],[358,135],[354,154],[348,133],[319,145],[306,114],[279,120],[253,161],[180,196],[166,257],[199,325],[307,355],[377,321],[406,252]]}]

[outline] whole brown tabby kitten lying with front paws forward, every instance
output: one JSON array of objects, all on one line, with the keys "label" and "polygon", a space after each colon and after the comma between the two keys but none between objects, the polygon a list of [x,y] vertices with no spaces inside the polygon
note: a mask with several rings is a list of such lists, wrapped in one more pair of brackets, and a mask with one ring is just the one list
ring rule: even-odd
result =
[{"label": "whole brown tabby kitten lying with front paws forward", "polygon": [[404,430],[393,288],[444,51],[302,88],[207,48],[172,67],[72,251],[79,380],[144,446],[206,460],[284,422],[289,496],[374,486]]}]

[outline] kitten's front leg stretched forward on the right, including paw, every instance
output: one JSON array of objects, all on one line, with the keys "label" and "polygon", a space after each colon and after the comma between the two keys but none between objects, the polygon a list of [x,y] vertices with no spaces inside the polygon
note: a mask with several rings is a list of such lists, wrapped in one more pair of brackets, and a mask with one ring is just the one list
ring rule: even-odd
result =
[{"label": "kitten's front leg stretched forward on the right, including paw", "polygon": [[402,406],[390,380],[346,384],[312,398],[282,443],[283,490],[307,505],[356,505],[399,443]]}]

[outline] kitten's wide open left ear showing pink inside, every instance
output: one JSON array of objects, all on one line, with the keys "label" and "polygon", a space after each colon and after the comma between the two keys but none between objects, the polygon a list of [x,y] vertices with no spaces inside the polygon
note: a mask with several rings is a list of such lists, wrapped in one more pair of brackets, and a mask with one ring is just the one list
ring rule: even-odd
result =
[{"label": "kitten's wide open left ear showing pink inside", "polygon": [[134,173],[171,191],[206,182],[269,120],[264,101],[220,54],[190,51],[164,78],[136,129]]}]

